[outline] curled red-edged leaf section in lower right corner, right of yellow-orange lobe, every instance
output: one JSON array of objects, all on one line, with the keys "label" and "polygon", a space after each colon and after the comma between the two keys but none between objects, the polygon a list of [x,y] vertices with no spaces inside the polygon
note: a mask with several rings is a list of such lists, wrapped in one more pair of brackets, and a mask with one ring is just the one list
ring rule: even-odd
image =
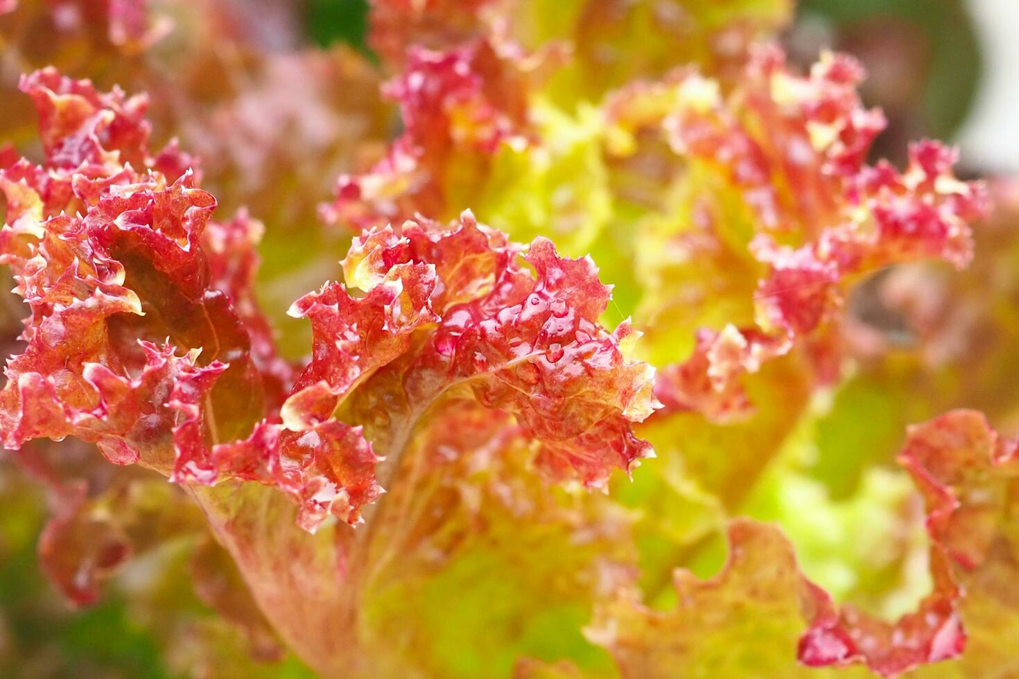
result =
[{"label": "curled red-edged leaf section in lower right corner, right of yellow-orange lobe", "polygon": [[896,676],[961,655],[965,591],[956,568],[971,571],[987,557],[1007,514],[1010,485],[1019,477],[1016,451],[1015,441],[1003,440],[972,410],[910,428],[899,462],[924,496],[933,590],[894,624],[822,605],[800,641],[800,660],[812,666],[865,662],[881,676]]}]

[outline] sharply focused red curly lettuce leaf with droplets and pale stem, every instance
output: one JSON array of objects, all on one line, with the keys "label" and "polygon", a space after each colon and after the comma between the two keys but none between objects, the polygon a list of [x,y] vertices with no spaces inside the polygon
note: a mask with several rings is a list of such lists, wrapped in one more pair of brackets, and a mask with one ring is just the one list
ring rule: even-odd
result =
[{"label": "sharply focused red curly lettuce leaf with droplets and pale stem", "polygon": [[[294,377],[251,292],[257,225],[244,215],[214,222],[215,200],[194,173],[159,170],[166,156],[149,152],[142,100],[52,71],[25,83],[47,159],[3,171],[13,208],[4,258],[32,310],[0,396],[5,444],[74,436],[184,485],[259,607],[313,667],[331,672],[376,647],[369,623],[385,608],[372,596],[414,536],[435,478],[429,433],[452,413],[466,407],[498,427],[486,432],[514,433],[528,501],[550,488],[535,471],[598,487],[649,456],[632,427],[657,405],[653,370],[628,357],[628,324],[601,326],[610,289],[590,259],[561,258],[543,238],[515,244],[469,213],[450,226],[366,232],[344,261],[346,284],[292,307],[313,327],[310,362]],[[589,527],[570,512],[548,520],[560,536]],[[359,521],[358,531],[340,523]],[[120,545],[93,547],[107,543]],[[120,561],[107,552],[99,576]],[[490,558],[468,553],[465,563]],[[521,619],[548,606],[547,621],[578,625],[603,555],[578,553],[579,579],[562,583],[559,603],[522,596]],[[227,618],[251,610],[235,585],[221,596],[199,584]],[[264,632],[249,634],[261,643]],[[504,632],[506,648],[522,644],[507,671],[532,649],[520,634]]]}]

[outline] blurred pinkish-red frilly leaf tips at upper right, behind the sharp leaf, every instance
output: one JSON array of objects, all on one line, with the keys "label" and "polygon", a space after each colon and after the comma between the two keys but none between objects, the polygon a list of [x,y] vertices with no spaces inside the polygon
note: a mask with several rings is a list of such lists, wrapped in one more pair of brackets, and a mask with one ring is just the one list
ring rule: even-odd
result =
[{"label": "blurred pinkish-red frilly leaf tips at upper right, behind the sharp leaf", "polygon": [[[957,152],[936,142],[911,147],[902,172],[884,161],[866,165],[884,121],[862,106],[862,77],[846,55],[824,55],[797,76],[777,48],[761,48],[726,99],[680,107],[665,120],[674,149],[712,168],[753,211],[750,249],[763,267],[758,328],[720,333],[725,367],[707,357],[717,341],[705,331],[690,359],[663,369],[656,390],[671,408],[713,420],[749,414],[740,378],[823,332],[862,275],[917,259],[961,268],[971,258],[968,223],[989,207],[983,184],[956,179]],[[700,76],[676,78],[682,87]],[[625,115],[624,101],[615,108]]]}]

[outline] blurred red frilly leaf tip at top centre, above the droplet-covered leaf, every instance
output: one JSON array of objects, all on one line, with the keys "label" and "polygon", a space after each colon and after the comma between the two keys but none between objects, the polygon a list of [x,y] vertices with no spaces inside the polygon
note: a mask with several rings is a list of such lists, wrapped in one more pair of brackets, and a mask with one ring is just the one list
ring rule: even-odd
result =
[{"label": "blurred red frilly leaf tip at top centre, above the droplet-covered leaf", "polygon": [[457,209],[444,188],[454,158],[483,164],[500,144],[526,143],[526,82],[537,61],[495,40],[412,48],[406,70],[383,89],[399,102],[404,133],[369,172],[339,177],[335,201],[322,206],[324,221],[360,231]]}]

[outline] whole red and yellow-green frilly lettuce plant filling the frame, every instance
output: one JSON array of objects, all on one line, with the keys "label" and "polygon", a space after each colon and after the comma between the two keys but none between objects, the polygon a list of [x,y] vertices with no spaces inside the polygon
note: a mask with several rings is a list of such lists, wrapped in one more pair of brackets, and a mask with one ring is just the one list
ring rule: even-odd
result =
[{"label": "whole red and yellow-green frilly lettuce plant filling the frame", "polygon": [[[965,293],[1010,253],[974,244],[991,189],[937,142],[871,162],[863,69],[788,63],[785,2],[377,0],[377,66],[224,31],[252,80],[214,95],[159,45],[228,3],[100,4],[90,58],[152,100],[26,72],[38,143],[0,163],[0,436],[70,602],[147,601],[206,676],[303,672],[284,649],[335,677],[1015,667],[1014,412],[951,409],[993,380],[930,353],[1015,332]],[[315,99],[336,70],[364,101]],[[973,313],[932,321],[931,290]],[[187,580],[215,616],[152,593]]]}]

